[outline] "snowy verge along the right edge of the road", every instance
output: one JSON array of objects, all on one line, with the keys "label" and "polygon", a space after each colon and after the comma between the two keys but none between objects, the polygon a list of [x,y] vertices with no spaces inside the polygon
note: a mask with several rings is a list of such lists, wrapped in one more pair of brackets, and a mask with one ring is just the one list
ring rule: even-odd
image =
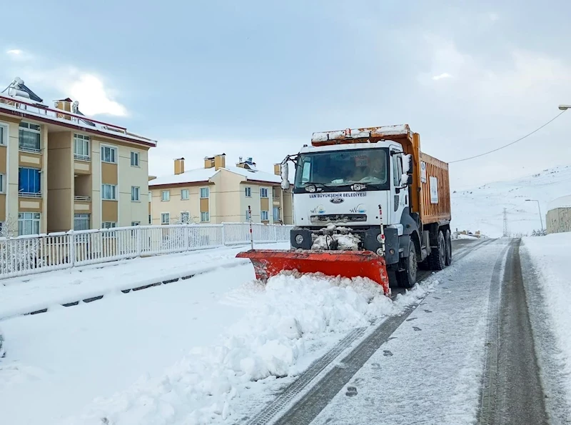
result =
[{"label": "snowy verge along the right edge of the road", "polygon": [[549,328],[560,351],[560,375],[566,380],[567,402],[571,405],[571,232],[524,238],[523,243],[539,278],[551,321]]}]

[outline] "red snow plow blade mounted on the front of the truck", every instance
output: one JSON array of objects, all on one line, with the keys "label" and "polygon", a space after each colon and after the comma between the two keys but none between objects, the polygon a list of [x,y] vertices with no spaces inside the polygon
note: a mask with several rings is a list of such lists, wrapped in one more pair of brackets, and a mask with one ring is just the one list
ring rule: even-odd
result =
[{"label": "red snow plow blade mounted on the front of the truck", "polygon": [[251,249],[240,252],[236,258],[250,259],[256,279],[267,281],[283,270],[299,273],[323,273],[327,276],[347,278],[367,277],[390,294],[385,259],[372,251],[277,251]]}]

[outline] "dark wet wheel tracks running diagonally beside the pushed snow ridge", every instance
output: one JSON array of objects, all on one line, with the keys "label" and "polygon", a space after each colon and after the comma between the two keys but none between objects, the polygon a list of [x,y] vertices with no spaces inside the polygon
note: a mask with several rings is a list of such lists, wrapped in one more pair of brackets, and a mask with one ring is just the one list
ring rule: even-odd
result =
[{"label": "dark wet wheel tracks running diagonally beside the pushed snow ridge", "polygon": [[[465,256],[473,252],[475,249],[490,244],[493,239],[485,241],[473,242],[471,246],[463,249],[458,256],[455,256],[455,261],[463,259]],[[419,280],[424,280],[430,276],[432,272],[427,271],[423,273]],[[404,290],[393,291],[393,297]],[[420,300],[422,302],[422,300]],[[273,419],[285,409],[293,399],[296,399],[299,394],[306,391],[315,377],[320,374],[329,364],[331,364],[338,355],[341,354],[350,344],[359,339],[365,334],[368,328],[358,328],[350,332],[344,339],[336,344],[327,354],[315,361],[298,379],[293,381],[281,391],[268,406],[254,414],[251,418],[243,418],[242,421],[248,421],[249,425],[263,425],[263,424],[309,424],[320,411],[327,406],[333,399],[335,394],[348,383],[353,375],[365,364],[370,356],[379,349],[390,338],[391,334],[400,326],[400,324],[407,319],[407,317],[420,305],[415,304],[409,306],[399,316],[391,316],[383,321],[377,328],[368,335],[363,341],[358,344],[353,350],[350,351],[341,361],[340,364],[330,369],[325,376],[322,376],[318,382],[310,387],[298,401],[290,406],[288,411],[277,420]],[[373,324],[373,326],[375,326]]]}]

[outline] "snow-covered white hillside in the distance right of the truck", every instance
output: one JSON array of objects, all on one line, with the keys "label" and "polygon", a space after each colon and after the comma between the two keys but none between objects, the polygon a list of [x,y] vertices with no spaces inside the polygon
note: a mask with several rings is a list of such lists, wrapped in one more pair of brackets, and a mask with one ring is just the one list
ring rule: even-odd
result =
[{"label": "snow-covered white hillside in the distance right of the truck", "polygon": [[571,194],[571,166],[546,169],[521,179],[497,181],[452,194],[453,229],[477,231],[491,237],[502,236],[503,209],[507,209],[508,231],[512,235],[531,234],[541,229],[537,202],[540,201],[543,226],[547,204]]}]

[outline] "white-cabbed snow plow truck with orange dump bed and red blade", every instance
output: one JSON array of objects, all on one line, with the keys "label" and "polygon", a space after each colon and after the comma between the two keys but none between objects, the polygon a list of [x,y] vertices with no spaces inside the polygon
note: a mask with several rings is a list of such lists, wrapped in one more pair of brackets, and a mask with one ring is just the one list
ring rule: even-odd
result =
[{"label": "white-cabbed snow plow truck with orange dump bed and red blade", "polygon": [[414,286],[419,267],[452,262],[448,164],[424,154],[408,124],[314,133],[283,160],[281,179],[293,191],[291,248],[238,254],[261,281],[281,271],[362,276],[389,295]]}]

